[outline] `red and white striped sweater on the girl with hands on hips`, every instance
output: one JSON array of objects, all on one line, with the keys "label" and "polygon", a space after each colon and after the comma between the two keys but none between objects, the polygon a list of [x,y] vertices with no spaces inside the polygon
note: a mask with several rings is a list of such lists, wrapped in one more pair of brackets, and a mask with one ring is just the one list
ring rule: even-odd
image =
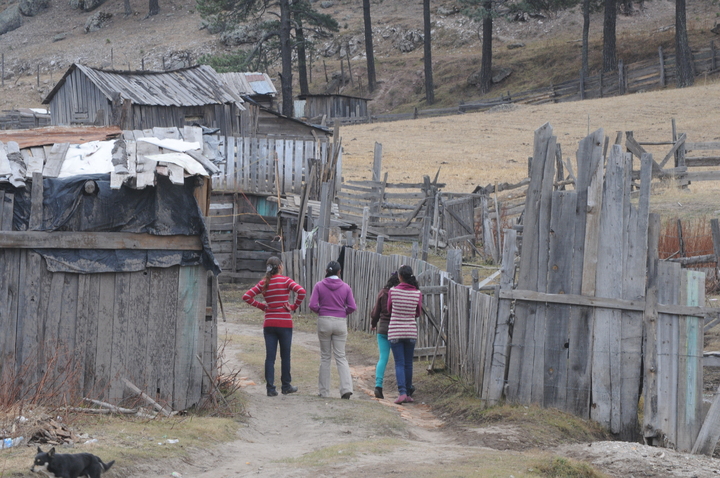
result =
[{"label": "red and white striped sweater on the girl with hands on hips", "polygon": [[[291,310],[297,310],[305,298],[305,289],[289,277],[280,274],[270,278],[270,285],[263,293],[262,287],[265,279],[258,282],[255,287],[245,292],[243,300],[253,307],[265,311],[265,322],[263,327],[289,327],[292,328],[292,315],[285,309],[290,299],[290,291],[295,292],[295,303],[290,305]],[[255,300],[255,297],[262,295],[265,302]]]}]

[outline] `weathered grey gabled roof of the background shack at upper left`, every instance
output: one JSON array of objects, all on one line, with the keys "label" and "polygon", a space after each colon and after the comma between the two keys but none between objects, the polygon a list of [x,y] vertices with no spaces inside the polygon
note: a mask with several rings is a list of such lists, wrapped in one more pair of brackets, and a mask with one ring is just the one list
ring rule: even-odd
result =
[{"label": "weathered grey gabled roof of the background shack at upper left", "polygon": [[149,106],[202,106],[210,104],[242,104],[240,95],[233,93],[220,79],[218,73],[207,65],[198,65],[172,71],[110,71],[74,64],[68,69],[55,88],[43,100],[50,102],[65,79],[79,69],[100,91],[113,99],[120,97],[134,104]]}]

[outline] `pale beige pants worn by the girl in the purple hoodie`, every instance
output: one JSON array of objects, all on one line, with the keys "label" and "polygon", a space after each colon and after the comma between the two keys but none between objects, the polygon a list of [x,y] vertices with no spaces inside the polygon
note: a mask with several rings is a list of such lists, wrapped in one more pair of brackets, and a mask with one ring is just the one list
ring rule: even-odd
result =
[{"label": "pale beige pants worn by the girl in the purple hoodie", "polygon": [[318,388],[321,397],[330,396],[330,359],[335,363],[340,376],[340,395],[353,391],[350,365],[345,357],[347,341],[347,319],[345,317],[318,317],[318,338],[320,339],[320,378]]}]

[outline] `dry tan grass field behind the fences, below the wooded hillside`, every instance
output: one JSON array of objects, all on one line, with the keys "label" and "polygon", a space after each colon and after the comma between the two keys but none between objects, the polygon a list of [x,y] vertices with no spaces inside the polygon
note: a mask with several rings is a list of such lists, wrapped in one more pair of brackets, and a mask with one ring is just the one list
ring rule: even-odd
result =
[{"label": "dry tan grass field behind the fences, below the wooded hillside", "polygon": [[[508,105],[482,113],[344,126],[343,176],[369,179],[378,142],[390,182],[415,182],[425,174],[434,176],[440,168],[445,191],[469,193],[477,185],[525,178],[533,132],[546,122],[553,127],[563,157],[575,167],[578,142],[588,132],[603,128],[611,142],[617,131],[633,131],[640,142],[669,141],[673,118],[678,133],[687,133],[688,141],[720,140],[720,81],[701,79],[691,88],[614,98]],[[670,147],[646,149],[659,161]],[[706,202],[715,199],[717,191],[720,183],[696,183],[680,202],[694,198]]]}]

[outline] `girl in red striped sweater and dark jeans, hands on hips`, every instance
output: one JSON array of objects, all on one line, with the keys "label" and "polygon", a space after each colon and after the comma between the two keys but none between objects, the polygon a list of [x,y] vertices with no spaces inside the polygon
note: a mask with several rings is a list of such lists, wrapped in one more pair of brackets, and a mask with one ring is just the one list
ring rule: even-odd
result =
[{"label": "girl in red striped sweater and dark jeans, hands on hips", "polygon": [[[276,397],[275,357],[280,344],[280,380],[283,395],[297,392],[290,382],[290,348],[292,346],[292,315],[305,298],[305,289],[289,277],[282,275],[283,264],[278,257],[267,260],[265,277],[255,287],[245,292],[243,300],[265,311],[263,335],[265,336],[265,383],[268,397]],[[290,303],[290,292],[295,292],[295,302]],[[262,294],[265,302],[255,300]]]}]

